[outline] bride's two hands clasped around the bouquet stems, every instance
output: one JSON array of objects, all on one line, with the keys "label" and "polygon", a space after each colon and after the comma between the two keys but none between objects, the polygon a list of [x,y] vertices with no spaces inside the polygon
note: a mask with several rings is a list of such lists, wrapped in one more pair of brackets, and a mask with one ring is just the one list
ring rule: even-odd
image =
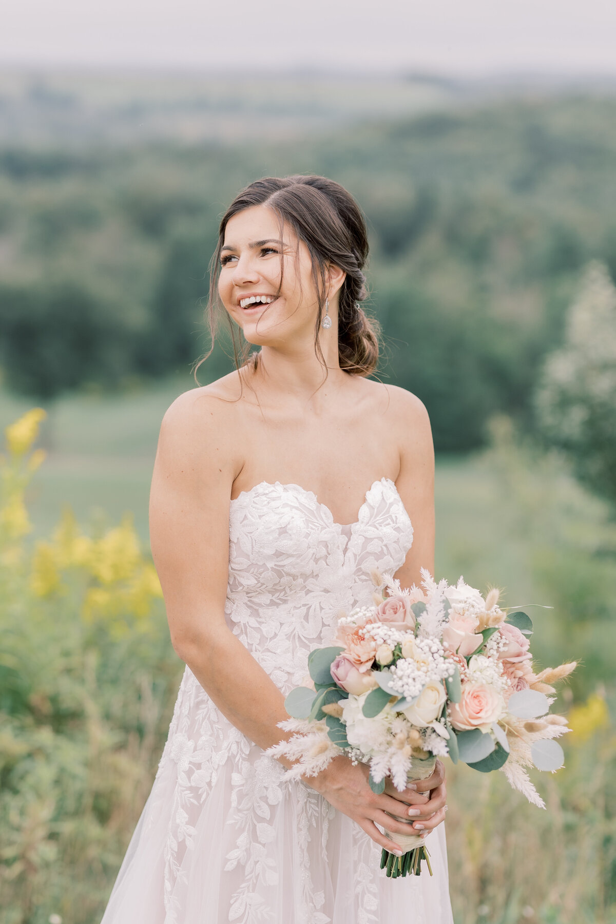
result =
[{"label": "bride's two hands clasped around the bouquet stems", "polygon": [[[413,815],[413,818],[421,819],[416,824],[423,824],[426,829],[425,833],[439,824],[444,818],[442,807],[445,802],[442,764],[438,761],[437,769],[432,776],[428,780],[417,783],[417,786],[424,786],[424,791],[428,793],[428,796],[410,788],[399,793],[391,780],[386,782],[385,792],[377,796],[368,784],[368,773],[368,767],[365,764],[359,763],[354,766],[348,758],[341,755],[334,758],[332,763],[317,777],[308,777],[306,783],[324,796],[333,808],[337,808],[338,811],[356,821],[362,831],[365,831],[376,844],[391,853],[402,855],[400,845],[380,833],[377,824],[392,833],[394,839],[396,834],[408,834],[410,833],[408,823],[396,821],[392,816],[402,818],[408,813],[409,808],[413,812],[418,812]],[[431,798],[429,798],[429,784],[436,787]],[[437,790],[439,790],[438,793]],[[411,821],[410,817],[409,821]],[[414,824],[414,830],[415,827]],[[423,835],[424,832],[417,830],[417,834]]]}]

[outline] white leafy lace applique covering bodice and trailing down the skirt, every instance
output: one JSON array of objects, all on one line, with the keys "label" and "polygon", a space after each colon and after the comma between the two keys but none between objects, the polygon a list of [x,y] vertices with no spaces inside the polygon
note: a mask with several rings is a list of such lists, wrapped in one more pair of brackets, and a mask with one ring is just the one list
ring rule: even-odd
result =
[{"label": "white leafy lace applique covering bodice and trailing down the skirt", "polygon": [[[356,523],[346,527],[333,522],[313,493],[262,482],[231,502],[227,623],[286,693],[307,675],[309,651],[332,640],[340,610],[370,601],[370,570],[397,570],[412,541],[413,527],[391,480],[374,482]],[[293,924],[330,924],[321,910],[320,868],[334,809],[308,786],[284,782],[282,766],[227,722],[188,668],[157,781],[170,772],[175,787],[164,848],[166,924],[182,924],[187,853],[197,847],[201,812],[228,781],[223,830],[212,833],[212,844],[224,851],[222,876],[233,883],[228,920],[280,920],[272,903],[282,886],[281,837],[291,823],[301,869]],[[379,849],[359,828],[353,836],[357,924],[373,924],[379,920]]]}]

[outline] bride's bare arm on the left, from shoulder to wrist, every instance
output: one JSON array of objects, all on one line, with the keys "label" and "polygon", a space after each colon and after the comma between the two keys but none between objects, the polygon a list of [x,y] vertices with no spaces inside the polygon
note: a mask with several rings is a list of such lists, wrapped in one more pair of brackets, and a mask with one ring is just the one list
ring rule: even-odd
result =
[{"label": "bride's bare arm on the left, from shoulder to wrist", "polygon": [[150,532],[171,640],[229,722],[260,748],[284,737],[284,696],[224,621],[236,457],[223,402],[201,390],[169,408],[151,484]]}]

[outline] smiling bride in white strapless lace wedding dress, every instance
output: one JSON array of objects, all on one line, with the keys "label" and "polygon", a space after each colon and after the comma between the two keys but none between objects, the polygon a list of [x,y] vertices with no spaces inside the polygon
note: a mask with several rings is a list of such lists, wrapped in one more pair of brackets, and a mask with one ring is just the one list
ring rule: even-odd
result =
[{"label": "smiling bride in white strapless lace wedding dress", "polygon": [[[223,216],[210,310],[260,351],[163,419],[151,548],[187,669],[103,924],[452,924],[441,763],[377,796],[345,757],[288,782],[264,753],[370,571],[433,572],[429,419],[368,379],[367,255],[356,202],[321,176],[261,179]],[[389,880],[380,848],[411,823],[434,875]]]}]

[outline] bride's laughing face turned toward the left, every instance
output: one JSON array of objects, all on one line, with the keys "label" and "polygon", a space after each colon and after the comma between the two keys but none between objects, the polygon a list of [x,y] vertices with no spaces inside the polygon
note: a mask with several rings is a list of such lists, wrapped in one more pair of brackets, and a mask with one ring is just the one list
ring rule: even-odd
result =
[{"label": "bride's laughing face turned toward the left", "polygon": [[221,263],[220,297],[248,343],[288,345],[305,337],[313,343],[318,299],[312,262],[290,225],[281,239],[279,218],[266,206],[237,213],[225,228]]}]

